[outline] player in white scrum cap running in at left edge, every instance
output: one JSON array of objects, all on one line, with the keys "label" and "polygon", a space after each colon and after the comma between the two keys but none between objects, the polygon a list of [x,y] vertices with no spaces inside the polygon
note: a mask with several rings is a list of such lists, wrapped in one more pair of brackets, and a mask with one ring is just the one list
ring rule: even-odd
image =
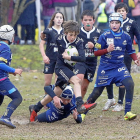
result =
[{"label": "player in white scrum cap running in at left edge", "polygon": [[0,124],[10,128],[16,128],[12,124],[10,117],[22,102],[22,96],[17,88],[11,83],[9,74],[21,75],[22,69],[10,67],[12,53],[10,44],[14,41],[14,29],[10,25],[0,27],[0,105],[3,103],[4,96],[8,96],[12,101],[7,106],[4,115],[0,118]]}]

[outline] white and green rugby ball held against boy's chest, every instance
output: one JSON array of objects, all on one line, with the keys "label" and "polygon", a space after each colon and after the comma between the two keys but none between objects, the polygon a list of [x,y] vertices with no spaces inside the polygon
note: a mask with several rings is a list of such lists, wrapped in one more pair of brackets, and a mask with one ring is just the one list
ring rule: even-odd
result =
[{"label": "white and green rugby ball held against boy's chest", "polygon": [[[67,51],[69,56],[79,56],[79,53],[78,53],[77,49],[74,46],[69,46],[66,49],[66,51]],[[66,59],[65,59],[65,63],[68,63],[70,65],[75,65],[76,64],[75,61],[66,60]]]}]

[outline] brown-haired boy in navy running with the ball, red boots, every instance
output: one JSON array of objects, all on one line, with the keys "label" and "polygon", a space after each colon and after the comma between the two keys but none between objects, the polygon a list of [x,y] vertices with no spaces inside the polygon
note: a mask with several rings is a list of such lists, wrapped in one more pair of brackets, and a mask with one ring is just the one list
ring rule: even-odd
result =
[{"label": "brown-haired boy in navy running with the ball, red boots", "polygon": [[[76,96],[77,111],[79,114],[92,109],[95,104],[84,104],[81,96],[81,80],[74,74],[74,64],[75,62],[84,62],[85,53],[83,49],[82,40],[77,37],[80,31],[80,26],[75,21],[67,21],[64,26],[64,34],[60,34],[56,40],[58,46],[58,58],[55,66],[55,73],[58,76],[55,83],[54,91],[46,91],[50,96],[46,96],[39,102],[38,109],[42,105],[48,104],[52,99],[54,105],[57,108],[61,108],[60,96],[67,84],[71,83],[74,85],[73,90]],[[78,56],[71,56],[68,54],[67,49],[75,48],[78,51]],[[73,63],[71,63],[73,62]],[[34,113],[31,113],[31,117]]]}]

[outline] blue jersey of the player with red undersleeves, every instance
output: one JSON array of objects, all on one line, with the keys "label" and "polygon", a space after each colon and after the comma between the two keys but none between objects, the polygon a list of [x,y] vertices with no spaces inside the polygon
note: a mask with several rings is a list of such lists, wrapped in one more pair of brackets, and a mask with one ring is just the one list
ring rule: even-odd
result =
[{"label": "blue jersey of the player with red undersleeves", "polygon": [[114,33],[112,30],[104,32],[99,37],[95,45],[95,50],[106,49],[109,44],[114,44],[115,50],[101,56],[101,65],[109,64],[107,67],[116,67],[116,64],[123,63],[125,51],[128,54],[135,53],[130,36],[122,29],[120,33]]}]

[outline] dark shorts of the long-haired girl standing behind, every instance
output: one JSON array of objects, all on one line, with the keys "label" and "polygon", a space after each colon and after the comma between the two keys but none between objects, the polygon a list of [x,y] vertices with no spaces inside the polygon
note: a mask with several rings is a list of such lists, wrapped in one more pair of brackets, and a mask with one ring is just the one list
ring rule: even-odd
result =
[{"label": "dark shorts of the long-haired girl standing behind", "polygon": [[55,69],[55,64],[56,61],[54,60],[50,60],[50,64],[45,64],[44,65],[44,74],[53,74],[54,73],[54,69]]}]

